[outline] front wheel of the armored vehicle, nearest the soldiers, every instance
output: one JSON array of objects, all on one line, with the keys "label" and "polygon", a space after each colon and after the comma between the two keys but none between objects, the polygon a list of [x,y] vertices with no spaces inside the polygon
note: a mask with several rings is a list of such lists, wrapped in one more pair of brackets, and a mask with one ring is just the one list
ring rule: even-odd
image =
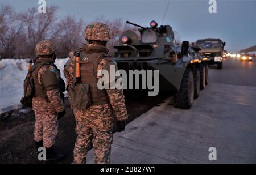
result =
[{"label": "front wheel of the armored vehicle, nearest the soldiers", "polygon": [[181,81],[180,89],[174,94],[174,107],[189,109],[194,99],[194,79],[191,69],[186,69]]}]

